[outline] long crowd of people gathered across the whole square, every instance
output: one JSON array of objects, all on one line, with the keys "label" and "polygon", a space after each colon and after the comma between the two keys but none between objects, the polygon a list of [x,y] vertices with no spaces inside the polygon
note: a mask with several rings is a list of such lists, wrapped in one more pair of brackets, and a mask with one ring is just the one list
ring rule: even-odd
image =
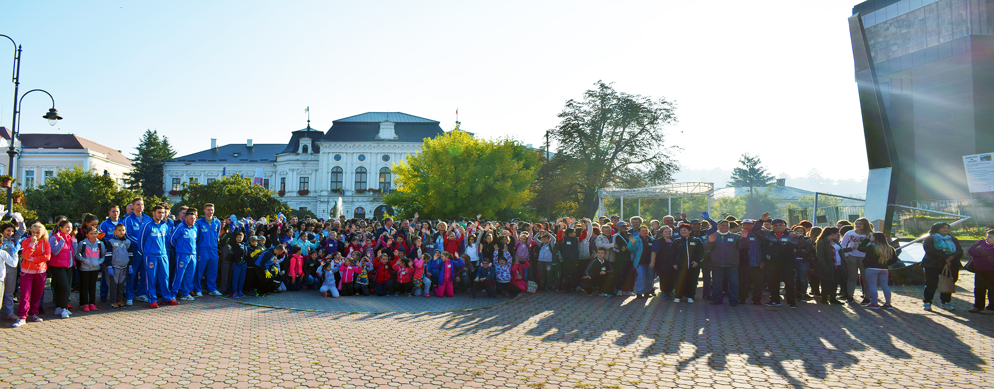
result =
[{"label": "long crowd of people gathered across the whole square", "polygon": [[[282,214],[254,220],[218,217],[213,204],[199,212],[184,206],[173,214],[169,204],[156,204],[146,213],[137,197],[124,216],[112,205],[103,220],[60,216],[53,231],[13,213],[0,224],[0,315],[13,326],[42,322],[49,278],[54,314],[63,319],[98,311],[97,300],[110,310],[135,301],[157,309],[205,294],[241,299],[297,291],[315,298],[473,299],[545,291],[694,303],[699,284],[711,305],[785,301],[790,309],[798,301],[857,304],[859,285],[860,306],[894,309],[889,269],[899,253],[865,218],[819,227],[807,220],[788,226],[769,213],[757,220],[716,221],[703,212],[690,220],[680,214],[648,222],[617,215],[526,222],[482,215],[419,220],[417,213],[399,221]],[[976,273],[970,312],[994,314],[994,230],[964,250],[948,224],[936,223],[923,245],[924,310],[931,310],[940,276],[955,278],[968,251]],[[950,293],[939,294],[939,307],[955,310]]]}]

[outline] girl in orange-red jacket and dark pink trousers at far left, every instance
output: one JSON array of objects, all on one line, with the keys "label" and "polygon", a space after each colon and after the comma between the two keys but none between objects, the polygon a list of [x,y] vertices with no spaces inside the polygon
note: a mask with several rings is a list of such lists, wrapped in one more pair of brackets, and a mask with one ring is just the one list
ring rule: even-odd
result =
[{"label": "girl in orange-red jacket and dark pink trousers at far left", "polygon": [[[41,322],[38,317],[38,307],[42,303],[42,291],[45,289],[45,275],[52,259],[52,247],[49,245],[49,231],[42,223],[31,225],[31,237],[21,242],[21,300],[18,301],[17,322],[13,326],[21,326],[30,319]],[[30,317],[29,317],[30,315]]]}]

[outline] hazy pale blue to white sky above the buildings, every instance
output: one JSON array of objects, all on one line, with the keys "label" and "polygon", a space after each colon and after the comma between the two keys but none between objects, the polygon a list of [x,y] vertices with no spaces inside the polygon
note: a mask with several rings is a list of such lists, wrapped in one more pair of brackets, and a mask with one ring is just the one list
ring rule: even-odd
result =
[{"label": "hazy pale blue to white sky above the buildings", "polygon": [[[467,131],[539,144],[603,79],[677,101],[665,143],[685,167],[730,169],[750,152],[774,174],[852,179],[867,175],[846,22],[857,3],[9,1],[0,34],[24,46],[22,92],[52,92],[66,117],[50,127],[33,93],[23,132],[127,153],[146,128],[178,155],[211,137],[285,143],[306,106],[324,131],[368,111],[449,130],[458,107]],[[10,44],[0,53],[3,74]]]}]

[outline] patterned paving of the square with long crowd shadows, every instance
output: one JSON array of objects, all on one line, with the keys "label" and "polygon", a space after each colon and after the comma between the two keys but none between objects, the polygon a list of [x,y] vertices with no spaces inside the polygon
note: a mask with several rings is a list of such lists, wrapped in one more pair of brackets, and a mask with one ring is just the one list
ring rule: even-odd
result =
[{"label": "patterned paving of the square with long crowd shadows", "polygon": [[[101,305],[67,320],[50,309],[43,323],[0,328],[0,386],[994,387],[994,317],[966,312],[972,279],[961,277],[955,312],[922,311],[921,287],[895,288],[895,311],[572,294],[441,313],[305,312],[213,297],[158,310]],[[286,301],[316,294],[295,293]],[[322,310],[343,299],[430,301],[314,299]]]}]

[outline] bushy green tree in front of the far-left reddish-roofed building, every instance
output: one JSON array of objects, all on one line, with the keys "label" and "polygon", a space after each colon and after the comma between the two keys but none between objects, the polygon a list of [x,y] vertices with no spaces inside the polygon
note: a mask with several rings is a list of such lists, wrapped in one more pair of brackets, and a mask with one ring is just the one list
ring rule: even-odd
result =
[{"label": "bushy green tree in front of the far-left reddish-roofed building", "polygon": [[110,176],[86,172],[79,166],[59,171],[25,196],[29,207],[38,211],[38,218],[43,222],[51,222],[59,215],[77,221],[87,212],[103,217],[111,204],[123,207],[138,196],[145,197],[145,205],[149,208],[165,202],[156,195],[142,195],[140,190],[121,189]]}]

